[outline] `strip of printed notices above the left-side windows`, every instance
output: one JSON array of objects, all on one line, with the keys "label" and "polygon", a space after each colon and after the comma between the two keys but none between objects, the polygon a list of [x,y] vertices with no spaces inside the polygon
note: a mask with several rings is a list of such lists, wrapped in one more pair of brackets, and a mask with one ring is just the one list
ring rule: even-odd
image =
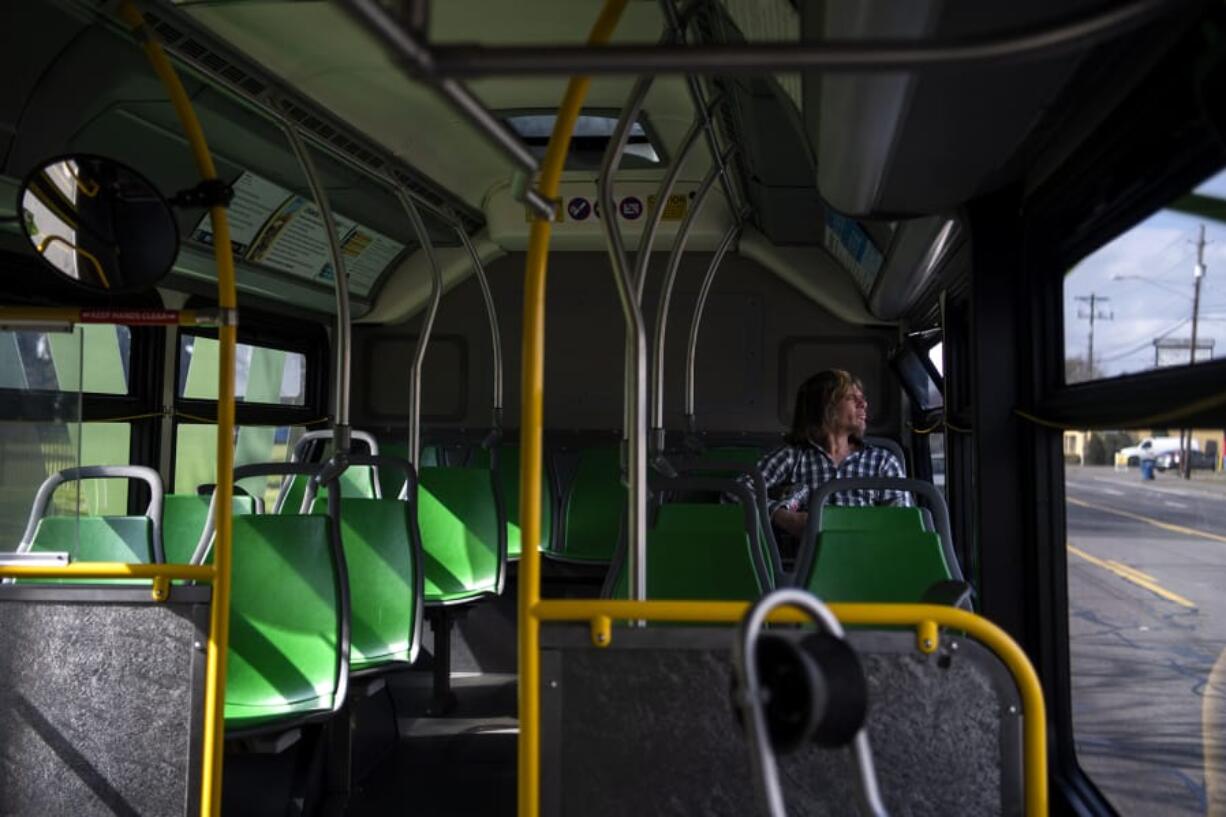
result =
[{"label": "strip of printed notices above the left-side windows", "polygon": [[[336,272],[327,249],[324,220],[310,199],[244,172],[234,183],[229,205],[230,245],[250,264],[280,270],[298,278],[332,285]],[[332,213],[341,239],[349,292],[368,296],[405,245],[369,227]],[[192,240],[212,244],[212,222],[205,215]]]}]

